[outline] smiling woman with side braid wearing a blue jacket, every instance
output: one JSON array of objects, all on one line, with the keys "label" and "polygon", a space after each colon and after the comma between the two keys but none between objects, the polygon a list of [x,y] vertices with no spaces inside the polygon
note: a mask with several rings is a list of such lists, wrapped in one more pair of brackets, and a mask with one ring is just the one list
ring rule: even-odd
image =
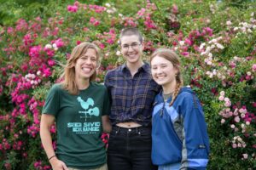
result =
[{"label": "smiling woman with side braid wearing a blue jacket", "polygon": [[183,87],[180,62],[171,49],[152,54],[151,71],[162,91],[154,99],[152,161],[159,170],[206,169],[207,124],[199,99]]}]

